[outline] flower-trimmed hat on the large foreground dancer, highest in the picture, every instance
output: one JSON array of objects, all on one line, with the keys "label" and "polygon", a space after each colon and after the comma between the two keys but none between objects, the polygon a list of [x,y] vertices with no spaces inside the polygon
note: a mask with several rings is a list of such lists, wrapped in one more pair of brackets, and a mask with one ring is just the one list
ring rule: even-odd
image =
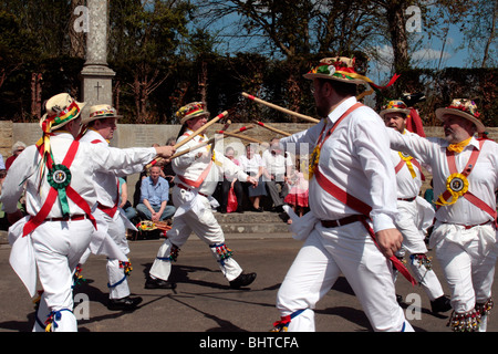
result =
[{"label": "flower-trimmed hat on the large foreground dancer, highest in the picture", "polygon": [[366,84],[364,76],[356,73],[354,70],[354,58],[334,56],[324,58],[320,63],[311,69],[310,72],[303,75],[304,79],[328,79],[342,81],[350,84]]}]

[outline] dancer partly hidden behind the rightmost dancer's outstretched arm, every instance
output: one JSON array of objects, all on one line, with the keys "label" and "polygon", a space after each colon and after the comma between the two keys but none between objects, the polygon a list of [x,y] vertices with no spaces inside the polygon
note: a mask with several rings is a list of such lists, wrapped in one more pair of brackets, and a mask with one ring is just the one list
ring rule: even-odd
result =
[{"label": "dancer partly hidden behind the rightmost dancer's outstretched arm", "polygon": [[[380,115],[387,127],[401,134],[413,135],[406,129],[406,119],[409,110],[403,101],[390,101]],[[409,155],[391,150],[397,185],[397,218],[396,228],[403,235],[403,247],[397,256],[404,258],[408,253],[409,266],[417,282],[424,288],[430,301],[434,313],[452,309],[449,299],[444,294],[443,288],[432,269],[432,261],[427,257],[425,246],[425,230],[433,225],[434,208],[424,198],[419,197],[423,173],[417,159]]]}]

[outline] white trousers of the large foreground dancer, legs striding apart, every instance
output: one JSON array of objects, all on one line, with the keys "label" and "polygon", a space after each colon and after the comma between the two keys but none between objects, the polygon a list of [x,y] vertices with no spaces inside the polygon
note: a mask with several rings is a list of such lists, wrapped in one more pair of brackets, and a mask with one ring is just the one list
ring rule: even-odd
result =
[{"label": "white trousers of the large foreground dancer, legs striding apart", "polygon": [[391,262],[381,253],[361,222],[338,228],[315,225],[277,295],[281,316],[292,315],[288,331],[314,331],[317,302],[343,274],[374,331],[413,331],[396,302]]}]

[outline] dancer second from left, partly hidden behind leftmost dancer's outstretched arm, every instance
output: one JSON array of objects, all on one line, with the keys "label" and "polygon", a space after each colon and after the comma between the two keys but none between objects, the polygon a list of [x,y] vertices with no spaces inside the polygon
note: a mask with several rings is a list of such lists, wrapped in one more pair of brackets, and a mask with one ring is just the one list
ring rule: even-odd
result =
[{"label": "dancer second from left, partly hidden behind leftmost dancer's outstretched arm", "polygon": [[[102,104],[90,107],[90,116],[82,122],[83,126],[87,126],[87,129],[80,142],[98,144],[102,147],[114,149],[108,144],[114,137],[118,117],[121,116],[116,114],[116,110],[110,105]],[[94,177],[98,200],[94,215],[105,223],[103,228],[107,228],[111,238],[126,256],[129,253],[126,229],[136,230],[136,228],[128,220],[123,209],[118,208],[120,181],[117,177],[139,173],[142,168],[143,166],[137,164],[123,169],[96,171]],[[129,296],[131,292],[126,278],[129,275],[131,263],[107,258],[106,270],[110,289],[107,309],[134,310],[142,302],[142,298]]]}]

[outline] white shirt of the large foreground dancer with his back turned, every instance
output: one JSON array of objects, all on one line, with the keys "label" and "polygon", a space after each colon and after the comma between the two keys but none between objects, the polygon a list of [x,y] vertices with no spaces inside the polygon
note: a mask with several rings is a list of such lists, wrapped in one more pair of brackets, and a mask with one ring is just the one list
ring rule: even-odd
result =
[{"label": "white shirt of the large foreground dancer with his back turned", "polygon": [[[305,132],[282,138],[280,142],[290,149],[302,148],[301,143],[313,150],[323,124],[330,129],[343,113],[356,103],[355,97],[342,102],[326,119]],[[395,228],[396,181],[391,149],[382,118],[373,110],[362,106],[355,110],[336,127],[324,143],[320,153],[319,167],[322,174],[352,196],[372,207],[374,231]],[[336,220],[357,211],[345,206],[325,191],[313,177],[310,180],[310,208],[321,220]]]}]

